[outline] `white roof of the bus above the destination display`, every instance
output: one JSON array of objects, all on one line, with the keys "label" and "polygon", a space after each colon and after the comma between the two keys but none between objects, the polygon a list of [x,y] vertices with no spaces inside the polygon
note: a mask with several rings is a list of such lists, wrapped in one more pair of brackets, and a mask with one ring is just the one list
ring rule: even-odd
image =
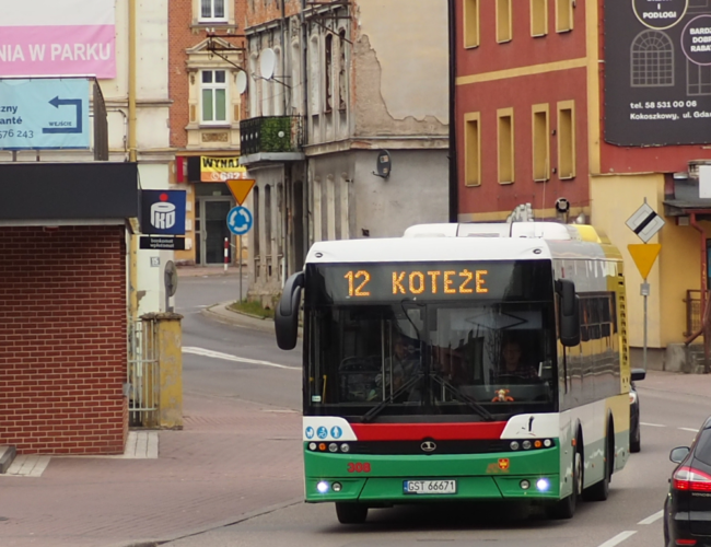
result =
[{"label": "white roof of the bus above the destination display", "polygon": [[306,263],[621,260],[593,226],[556,222],[419,224],[404,237],[317,242]]}]

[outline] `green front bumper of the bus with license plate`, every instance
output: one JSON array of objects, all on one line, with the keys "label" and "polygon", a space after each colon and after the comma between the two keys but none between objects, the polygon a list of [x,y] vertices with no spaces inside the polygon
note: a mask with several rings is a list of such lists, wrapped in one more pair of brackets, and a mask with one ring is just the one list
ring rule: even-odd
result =
[{"label": "green front bumper of the bus with license plate", "polygon": [[[505,455],[370,455],[360,456],[358,462],[340,454],[306,452],[304,456],[305,498],[311,503],[552,501],[561,497],[558,449]],[[417,493],[408,492],[408,482],[412,481],[418,482]]]}]

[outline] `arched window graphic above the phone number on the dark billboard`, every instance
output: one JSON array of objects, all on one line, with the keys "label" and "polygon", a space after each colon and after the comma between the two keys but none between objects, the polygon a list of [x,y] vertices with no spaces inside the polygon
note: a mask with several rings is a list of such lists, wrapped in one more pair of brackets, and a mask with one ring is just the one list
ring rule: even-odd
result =
[{"label": "arched window graphic above the phone number on the dark billboard", "polygon": [[642,31],[632,42],[630,53],[632,88],[674,85],[674,46],[660,31]]}]

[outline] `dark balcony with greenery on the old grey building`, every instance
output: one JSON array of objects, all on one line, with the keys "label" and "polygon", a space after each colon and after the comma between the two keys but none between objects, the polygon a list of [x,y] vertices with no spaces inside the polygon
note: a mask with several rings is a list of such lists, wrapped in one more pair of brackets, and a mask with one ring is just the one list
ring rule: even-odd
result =
[{"label": "dark balcony with greenery on the old grey building", "polygon": [[240,163],[304,159],[300,116],[263,116],[240,121]]}]

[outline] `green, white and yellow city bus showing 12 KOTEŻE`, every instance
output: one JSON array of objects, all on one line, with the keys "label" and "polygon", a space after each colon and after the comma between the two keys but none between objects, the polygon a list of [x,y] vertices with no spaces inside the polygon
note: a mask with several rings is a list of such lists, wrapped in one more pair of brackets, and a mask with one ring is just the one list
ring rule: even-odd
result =
[{"label": "green, white and yellow city bus showing 12 KOTE\u017bE", "polygon": [[405,503],[570,519],[605,500],[629,457],[626,307],[621,255],[587,225],[315,243],[275,322],[281,349],[303,325],[305,501],[356,524]]}]

